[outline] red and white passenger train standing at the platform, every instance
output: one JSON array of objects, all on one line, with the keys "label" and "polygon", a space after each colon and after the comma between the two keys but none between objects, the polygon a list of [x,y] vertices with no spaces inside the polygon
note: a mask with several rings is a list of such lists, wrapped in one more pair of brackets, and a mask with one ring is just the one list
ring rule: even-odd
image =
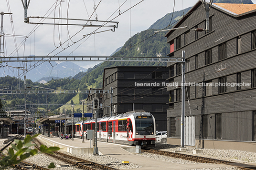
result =
[{"label": "red and white passenger train standing at the platform", "polygon": [[[143,148],[155,146],[156,123],[149,112],[129,111],[117,116],[99,118],[97,124],[99,141],[140,145]],[[95,130],[95,119],[84,121],[84,136],[87,129]],[[82,121],[75,124],[75,133],[76,137],[82,136]]]}]

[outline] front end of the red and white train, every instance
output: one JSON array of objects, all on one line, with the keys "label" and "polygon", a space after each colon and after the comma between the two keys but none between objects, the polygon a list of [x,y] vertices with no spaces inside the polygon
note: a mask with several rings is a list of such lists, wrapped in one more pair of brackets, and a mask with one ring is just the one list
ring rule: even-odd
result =
[{"label": "front end of the red and white train", "polygon": [[153,115],[149,112],[134,113],[135,135],[134,145],[142,148],[155,146],[156,122]]}]

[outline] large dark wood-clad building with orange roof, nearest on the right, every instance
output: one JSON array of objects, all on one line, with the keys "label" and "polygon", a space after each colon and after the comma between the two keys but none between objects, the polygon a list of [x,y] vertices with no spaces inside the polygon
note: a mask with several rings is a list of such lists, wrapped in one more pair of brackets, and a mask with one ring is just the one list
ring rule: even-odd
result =
[{"label": "large dark wood-clad building with orange roof, nearest on the right", "polygon": [[[166,34],[170,57],[186,52],[185,145],[256,151],[255,9],[256,4],[213,4],[209,32],[197,32],[192,29],[205,29],[206,23],[199,0],[174,26],[189,29]],[[180,83],[181,63],[168,67],[169,82]],[[181,88],[167,91],[167,142],[180,145]]]}]

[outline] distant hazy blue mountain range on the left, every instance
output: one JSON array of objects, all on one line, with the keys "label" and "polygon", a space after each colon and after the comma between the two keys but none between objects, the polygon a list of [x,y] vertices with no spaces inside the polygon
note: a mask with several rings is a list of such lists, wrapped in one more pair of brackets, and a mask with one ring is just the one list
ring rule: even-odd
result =
[{"label": "distant hazy blue mountain range on the left", "polygon": [[[32,66],[34,62],[28,62],[27,68]],[[2,65],[5,66],[4,63]],[[11,64],[8,63],[8,65],[12,67],[22,67],[24,69],[24,66],[21,66],[18,62],[12,62]],[[87,69],[84,69],[78,65],[76,65],[73,62],[61,62],[58,63],[55,61],[50,62],[43,62],[38,67],[33,68],[31,71],[27,72],[27,79],[32,80],[33,82],[41,80],[52,80],[53,77],[56,78],[65,78],[69,76],[75,76],[77,73],[84,71],[86,72]],[[21,74],[23,70],[14,69],[11,67],[1,67],[0,68],[0,77],[4,77],[6,75],[17,77],[19,73]],[[21,77],[23,78],[23,76]],[[55,79],[55,78],[54,78]]]}]

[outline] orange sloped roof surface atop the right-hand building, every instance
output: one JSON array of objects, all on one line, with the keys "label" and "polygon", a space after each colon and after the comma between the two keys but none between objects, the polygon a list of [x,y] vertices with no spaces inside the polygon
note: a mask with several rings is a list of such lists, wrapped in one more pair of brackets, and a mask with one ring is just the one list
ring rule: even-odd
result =
[{"label": "orange sloped roof surface atop the right-hand building", "polygon": [[240,3],[214,3],[219,7],[222,7],[226,10],[236,13],[237,15],[256,10],[256,4],[240,4]]}]

